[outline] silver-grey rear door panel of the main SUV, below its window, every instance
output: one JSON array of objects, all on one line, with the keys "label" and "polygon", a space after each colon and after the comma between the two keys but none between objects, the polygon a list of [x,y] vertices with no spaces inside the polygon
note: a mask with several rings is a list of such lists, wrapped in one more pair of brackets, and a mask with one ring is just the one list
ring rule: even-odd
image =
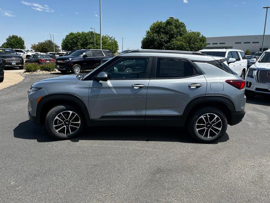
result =
[{"label": "silver-grey rear door panel of the main SUV, below its window", "polygon": [[[190,84],[200,84],[201,87],[189,87]],[[203,75],[190,78],[151,79],[147,90],[146,116],[182,115],[191,100],[205,96],[206,85]]]}]

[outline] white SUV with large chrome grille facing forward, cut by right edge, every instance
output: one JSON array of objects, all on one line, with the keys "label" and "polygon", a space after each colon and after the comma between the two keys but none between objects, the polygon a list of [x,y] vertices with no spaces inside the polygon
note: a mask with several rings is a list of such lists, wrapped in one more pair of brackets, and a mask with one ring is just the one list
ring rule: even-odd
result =
[{"label": "white SUV with large chrome grille facing forward, cut by right edge", "polygon": [[245,93],[247,96],[253,96],[254,93],[270,94],[270,49],[264,51],[260,58],[250,59],[255,63],[248,69],[246,75]]}]

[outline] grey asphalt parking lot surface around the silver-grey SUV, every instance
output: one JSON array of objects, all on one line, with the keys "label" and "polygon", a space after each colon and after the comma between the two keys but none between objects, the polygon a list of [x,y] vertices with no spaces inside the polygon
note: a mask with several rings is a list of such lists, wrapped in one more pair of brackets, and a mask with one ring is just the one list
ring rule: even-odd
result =
[{"label": "grey asphalt parking lot surface around the silver-grey SUV", "polygon": [[0,90],[0,202],[270,202],[270,100],[214,144],[182,128],[86,128],[56,141],[27,117],[27,90]]}]

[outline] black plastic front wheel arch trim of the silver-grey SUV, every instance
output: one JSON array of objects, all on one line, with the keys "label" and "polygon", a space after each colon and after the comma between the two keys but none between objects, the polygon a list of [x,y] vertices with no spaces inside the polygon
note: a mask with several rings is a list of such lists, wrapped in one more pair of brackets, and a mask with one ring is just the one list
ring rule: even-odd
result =
[{"label": "black plastic front wheel arch trim of the silver-grey SUV", "polygon": [[51,94],[43,97],[36,108],[36,117],[40,119],[40,124],[43,125],[45,123],[46,115],[53,106],[63,104],[69,104],[79,108],[85,118],[86,124],[88,126],[93,126],[86,105],[81,98],[73,94]]}]

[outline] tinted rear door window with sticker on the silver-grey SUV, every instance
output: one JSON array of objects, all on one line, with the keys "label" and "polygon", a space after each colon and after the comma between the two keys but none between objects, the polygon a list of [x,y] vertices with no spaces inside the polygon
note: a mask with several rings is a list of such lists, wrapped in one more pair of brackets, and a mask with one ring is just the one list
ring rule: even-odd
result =
[{"label": "tinted rear door window with sticker on the silver-grey SUV", "polygon": [[156,78],[184,78],[193,75],[193,67],[184,59],[157,60]]}]

